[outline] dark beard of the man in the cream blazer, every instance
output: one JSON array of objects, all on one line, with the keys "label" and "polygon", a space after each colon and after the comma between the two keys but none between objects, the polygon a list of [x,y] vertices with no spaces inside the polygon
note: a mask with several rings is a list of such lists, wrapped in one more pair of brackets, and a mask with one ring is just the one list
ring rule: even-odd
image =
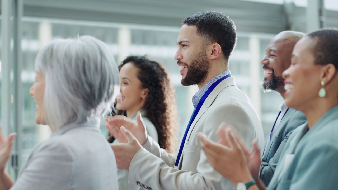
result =
[{"label": "dark beard of the man in the cream blazer", "polygon": [[[205,51],[201,51],[199,55],[201,55],[202,52],[204,53]],[[179,61],[177,63],[179,63]],[[188,72],[181,80],[183,86],[198,85],[206,80],[210,65],[205,54],[194,58],[189,66],[187,64],[185,65],[187,66]]]}]

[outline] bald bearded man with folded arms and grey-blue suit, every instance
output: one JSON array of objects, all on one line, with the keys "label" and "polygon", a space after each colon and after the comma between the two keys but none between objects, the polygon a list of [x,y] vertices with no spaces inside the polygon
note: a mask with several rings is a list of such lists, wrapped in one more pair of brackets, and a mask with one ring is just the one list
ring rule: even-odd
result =
[{"label": "bald bearded man with folded arms and grey-blue suit", "polygon": [[[266,55],[261,61],[265,74],[262,82],[264,92],[274,90],[284,98],[285,89],[282,73],[291,64],[294,45],[304,35],[305,33],[301,32],[283,31],[269,42]],[[277,162],[291,133],[296,127],[306,122],[306,117],[302,112],[285,106],[285,100],[280,104],[279,110],[280,113],[272,126],[263,151],[259,175],[265,186],[270,183]]]}]

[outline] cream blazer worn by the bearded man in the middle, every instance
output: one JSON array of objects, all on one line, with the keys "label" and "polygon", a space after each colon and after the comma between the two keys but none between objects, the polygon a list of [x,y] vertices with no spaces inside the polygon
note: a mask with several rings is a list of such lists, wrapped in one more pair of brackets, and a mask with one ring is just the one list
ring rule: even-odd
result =
[{"label": "cream blazer worn by the bearded man in the middle", "polygon": [[173,168],[176,155],[167,153],[149,137],[131,160],[129,183],[152,190],[234,189],[232,182],[208,163],[196,135],[202,132],[217,142],[216,131],[221,122],[234,126],[247,145],[256,138],[263,147],[261,121],[249,98],[236,87],[235,78],[228,77],[209,94],[193,121],[178,169]]}]

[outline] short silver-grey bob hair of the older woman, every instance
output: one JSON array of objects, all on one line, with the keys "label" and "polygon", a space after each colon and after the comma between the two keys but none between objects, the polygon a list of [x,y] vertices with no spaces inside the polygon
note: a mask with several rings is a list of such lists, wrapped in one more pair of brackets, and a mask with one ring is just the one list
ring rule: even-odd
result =
[{"label": "short silver-grey bob hair of the older woman", "polygon": [[113,52],[88,35],[53,40],[38,53],[35,69],[45,76],[43,112],[53,132],[102,116],[119,92]]}]

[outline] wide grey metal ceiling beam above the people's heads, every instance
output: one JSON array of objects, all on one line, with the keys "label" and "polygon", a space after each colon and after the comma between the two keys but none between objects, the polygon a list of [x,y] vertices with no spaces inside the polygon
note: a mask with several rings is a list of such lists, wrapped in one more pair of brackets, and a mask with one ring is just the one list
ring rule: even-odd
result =
[{"label": "wide grey metal ceiling beam above the people's heads", "polygon": [[204,10],[228,15],[243,32],[278,33],[286,26],[282,5],[238,0],[24,0],[24,16],[175,27]]}]

